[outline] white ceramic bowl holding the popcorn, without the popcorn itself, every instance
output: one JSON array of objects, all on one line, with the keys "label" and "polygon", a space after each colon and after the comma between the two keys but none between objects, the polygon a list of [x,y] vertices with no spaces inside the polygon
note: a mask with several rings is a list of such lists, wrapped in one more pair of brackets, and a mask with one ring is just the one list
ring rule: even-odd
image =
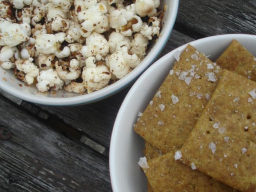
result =
[{"label": "white ceramic bowl holding the popcorn, without the popcorn itself", "polygon": [[[106,98],[115,92],[118,92],[126,85],[131,83],[134,79],[136,79],[146,68],[148,68],[148,66],[153,63],[156,57],[160,54],[161,50],[168,41],[171,30],[173,29],[173,25],[178,12],[178,3],[178,0],[163,1],[163,5],[167,5],[167,9],[163,17],[163,26],[158,41],[150,45],[147,56],[143,59],[139,66],[137,66],[124,78],[113,83],[112,85],[109,85],[108,87],[105,87],[104,89],[83,95],[65,92],[65,90],[59,90],[54,94],[40,93],[35,87],[26,87],[24,86],[24,83],[14,78],[13,70],[4,70],[1,67],[0,89],[3,89],[9,94],[12,94],[22,100],[44,105],[79,105],[96,102]],[[161,9],[163,9],[163,5],[161,5]]]}]

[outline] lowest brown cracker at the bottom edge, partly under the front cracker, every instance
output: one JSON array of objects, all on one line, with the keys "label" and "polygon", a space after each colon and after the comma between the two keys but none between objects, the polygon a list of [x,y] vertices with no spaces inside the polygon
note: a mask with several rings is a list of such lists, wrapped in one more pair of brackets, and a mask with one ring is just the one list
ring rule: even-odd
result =
[{"label": "lowest brown cracker at the bottom edge, partly under the front cracker", "polygon": [[[151,147],[152,148],[152,147]],[[152,152],[154,148],[150,149]],[[156,150],[156,149],[155,149]],[[157,154],[157,153],[155,153]],[[154,192],[234,192],[236,190],[220,183],[197,170],[192,170],[174,160],[174,152],[148,161],[144,169]]]}]

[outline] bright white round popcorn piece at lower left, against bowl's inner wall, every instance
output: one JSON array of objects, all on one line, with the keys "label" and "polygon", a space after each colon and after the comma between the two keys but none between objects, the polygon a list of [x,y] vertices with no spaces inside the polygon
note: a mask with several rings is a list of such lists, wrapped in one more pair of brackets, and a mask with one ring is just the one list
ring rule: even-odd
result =
[{"label": "bright white round popcorn piece at lower left, against bowl's inner wall", "polygon": [[42,70],[37,76],[37,82],[36,87],[41,92],[58,90],[64,85],[64,82],[53,69]]}]

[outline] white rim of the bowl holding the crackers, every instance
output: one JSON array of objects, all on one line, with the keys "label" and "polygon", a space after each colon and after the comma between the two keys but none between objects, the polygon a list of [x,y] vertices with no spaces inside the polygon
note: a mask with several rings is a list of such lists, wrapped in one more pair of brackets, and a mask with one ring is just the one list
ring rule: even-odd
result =
[{"label": "white rim of the bowl holding the crackers", "polygon": [[[137,90],[137,85],[139,85],[141,83],[141,81],[143,81],[143,79],[145,77],[147,77],[147,74],[151,74],[152,71],[155,71],[158,69],[158,63],[162,63],[162,61],[165,61],[166,59],[170,58],[175,52],[177,51],[182,51],[184,50],[184,48],[186,48],[186,46],[188,44],[191,44],[192,46],[197,46],[197,44],[203,44],[207,41],[211,41],[212,39],[250,39],[250,38],[254,38],[256,39],[256,35],[251,35],[251,34],[242,34],[242,33],[232,33],[232,34],[224,34],[224,35],[213,35],[213,36],[209,36],[209,37],[204,37],[202,39],[197,39],[191,42],[188,42],[182,46],[179,46],[178,48],[175,48],[174,50],[172,50],[171,52],[165,54],[163,57],[161,57],[160,59],[158,59],[156,62],[154,62],[138,79],[137,81],[134,83],[134,85],[131,87],[131,89],[129,90],[129,92],[126,94],[126,97],[124,98],[121,107],[117,113],[114,125],[113,125],[113,130],[111,133],[111,140],[110,140],[110,147],[109,147],[109,174],[110,174],[110,181],[111,181],[111,186],[112,186],[112,190],[113,192],[118,192],[120,190],[120,188],[118,188],[118,185],[115,180],[115,160],[117,155],[115,155],[115,146],[118,145],[117,143],[117,137],[118,137],[118,131],[119,128],[122,127],[122,118],[125,114],[125,111],[127,110],[127,106],[130,105],[130,100],[131,100],[131,96],[136,94],[136,90]],[[132,129],[132,127],[131,127]]]}]

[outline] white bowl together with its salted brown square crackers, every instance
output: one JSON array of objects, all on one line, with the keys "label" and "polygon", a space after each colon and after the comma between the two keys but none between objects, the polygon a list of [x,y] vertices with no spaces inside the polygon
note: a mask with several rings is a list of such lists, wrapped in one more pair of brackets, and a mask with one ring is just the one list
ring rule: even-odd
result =
[{"label": "white bowl together with its salted brown square crackers", "polygon": [[137,79],[111,136],[114,192],[255,190],[255,44],[245,34],[199,39]]}]

